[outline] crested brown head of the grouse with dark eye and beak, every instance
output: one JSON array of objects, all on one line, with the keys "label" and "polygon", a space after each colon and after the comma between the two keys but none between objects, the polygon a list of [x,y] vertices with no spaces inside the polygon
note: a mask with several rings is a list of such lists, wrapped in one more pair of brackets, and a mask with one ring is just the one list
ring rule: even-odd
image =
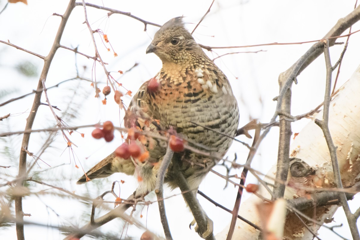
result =
[{"label": "crested brown head of the grouse with dark eye and beak", "polygon": [[188,62],[195,53],[202,52],[182,20],[176,17],[166,22],[154,35],[146,53],[155,53],[163,63]]}]

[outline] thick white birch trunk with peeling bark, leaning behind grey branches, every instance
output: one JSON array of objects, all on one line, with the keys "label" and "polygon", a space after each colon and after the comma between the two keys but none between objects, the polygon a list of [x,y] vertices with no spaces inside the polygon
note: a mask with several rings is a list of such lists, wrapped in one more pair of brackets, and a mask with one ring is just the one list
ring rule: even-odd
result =
[{"label": "thick white birch trunk with peeling bark, leaning behind grey branches", "polygon": [[[311,192],[314,189],[334,187],[334,176],[329,149],[324,135],[314,119],[322,120],[322,111],[314,116],[298,134],[290,148],[290,157],[301,159],[315,170],[314,175],[306,177],[293,177],[289,173],[288,183],[292,187],[285,190],[285,198],[293,199],[303,196],[305,191]],[[337,157],[341,172],[342,183],[345,187],[352,186],[354,180],[360,173],[360,66],[356,69],[352,77],[340,87],[339,92],[333,97],[330,103],[329,128],[334,144],[338,147]],[[273,182],[275,178],[276,166],[273,166],[267,173],[266,181]],[[271,196],[264,187],[259,190],[266,198]],[[249,221],[261,226],[261,216],[256,213],[256,204],[262,202],[257,196],[252,195],[241,205],[239,214]],[[338,208],[337,205],[326,208],[318,208],[316,221],[324,222],[325,218],[331,218]],[[309,212],[310,213],[310,212]],[[311,211],[312,214],[312,211]],[[310,216],[312,216],[310,214]],[[285,236],[292,239],[312,239],[312,234],[298,223],[294,216],[288,216],[285,222]],[[279,223],[280,224],[280,223]],[[312,231],[315,226],[310,226]],[[216,235],[217,240],[226,239],[229,226]],[[258,231],[253,227],[237,221],[233,239],[258,239]]]}]

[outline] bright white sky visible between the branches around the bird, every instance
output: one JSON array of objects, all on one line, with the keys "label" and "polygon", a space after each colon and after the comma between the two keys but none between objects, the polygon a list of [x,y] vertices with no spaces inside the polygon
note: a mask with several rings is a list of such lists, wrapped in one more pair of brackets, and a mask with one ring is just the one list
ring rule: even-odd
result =
[{"label": "bright white sky visible between the branches around the bird", "polygon": [[[0,1],[0,9],[3,8],[6,1]],[[184,15],[186,26],[190,31],[201,19],[211,4],[207,1],[91,1],[97,5],[103,5],[114,8],[142,18],[149,22],[163,24],[169,19]],[[9,40],[15,45],[24,49],[46,56],[53,44],[55,34],[58,29],[60,17],[52,16],[53,13],[62,14],[67,7],[68,1],[50,1],[50,0],[29,0],[28,5],[22,3],[9,4],[6,10],[0,14],[0,40]],[[211,12],[207,15],[201,25],[193,34],[198,43],[208,46],[240,46],[254,45],[272,42],[302,42],[321,39],[337,20],[345,17],[354,8],[355,1],[269,1],[269,0],[249,0],[249,1],[215,1]],[[145,54],[147,46],[152,40],[152,36],[158,30],[158,27],[148,25],[148,31],[144,32],[144,24],[124,15],[113,14],[109,18],[107,12],[88,7],[88,19],[93,30],[99,28],[108,35],[113,49],[118,54],[114,58],[112,52],[107,52],[102,44],[100,36],[95,34],[98,50],[108,71],[113,71],[112,76],[120,81],[126,89],[136,92],[142,82],[153,77],[161,68],[161,61],[154,54]],[[78,51],[90,56],[94,56],[93,43],[90,33],[84,22],[84,12],[82,6],[77,6],[73,10],[67,26],[65,28],[61,44],[67,47],[77,47]],[[358,30],[360,24],[353,26],[353,31]],[[346,31],[347,33],[347,31]],[[338,87],[341,86],[360,64],[359,59],[359,39],[360,33],[355,33],[350,37],[350,44],[342,63],[341,74],[339,76]],[[342,38],[338,41],[345,41]],[[279,73],[288,69],[300,56],[305,53],[312,44],[301,45],[279,45],[279,46],[261,46],[241,49],[215,50],[215,53],[208,53],[210,58],[218,55],[237,52],[237,51],[258,51],[259,53],[241,53],[231,54],[215,60],[215,63],[228,76],[235,96],[239,101],[240,123],[243,126],[250,119],[258,118],[261,122],[269,122],[274,114],[275,102],[272,99],[278,94],[278,76]],[[108,47],[108,45],[107,45]],[[330,49],[332,63],[334,64],[341,53],[343,45],[336,45]],[[23,61],[30,61],[35,64],[39,74],[36,77],[28,78],[20,74],[14,66]],[[91,78],[91,69],[93,61],[84,56],[77,55],[76,63],[81,76]],[[117,73],[118,70],[126,71],[135,63],[139,66],[132,69],[123,76]],[[0,99],[0,102],[10,98],[26,94],[36,88],[42,69],[43,61],[35,56],[16,50],[13,47],[0,44],[0,91],[14,91],[10,95]],[[86,66],[86,70],[82,66]],[[56,85],[58,82],[76,76],[75,55],[72,51],[59,49],[51,64],[46,86]],[[100,89],[105,86],[106,77],[99,64],[96,66],[96,76]],[[121,77],[121,78],[120,78]],[[119,79],[120,78],[120,79]],[[301,75],[297,78],[298,85],[292,87],[292,114],[298,115],[315,108],[322,102],[325,86],[325,64],[324,57],[320,56],[315,60]],[[76,94],[74,91],[76,90]],[[121,89],[121,91],[126,92]],[[67,121],[70,126],[94,124],[111,120],[115,125],[120,126],[123,113],[119,114],[118,107],[113,103],[112,96],[108,98],[108,104],[102,105],[103,95],[96,99],[95,92],[90,87],[89,82],[69,81],[48,91],[52,105],[58,106],[63,111],[72,98],[73,112],[75,119]],[[123,100],[128,104],[131,98],[126,96]],[[0,116],[8,113],[14,116],[0,122],[0,131],[23,130],[28,110],[31,108],[33,95],[22,100],[15,101],[0,108]],[[42,98],[45,102],[45,98]],[[19,114],[17,114],[19,113]],[[21,114],[23,113],[23,114]],[[62,112],[57,111],[59,116]],[[65,118],[65,117],[64,117]],[[293,133],[299,132],[308,122],[302,119],[292,124]],[[40,106],[37,113],[33,129],[44,127],[53,127],[55,125],[54,117],[48,107]],[[115,180],[125,180],[121,185],[120,196],[127,198],[135,189],[136,180],[131,176],[124,176],[121,173],[114,174],[106,180],[89,182],[86,185],[76,185],[78,177],[82,176],[81,167],[75,168],[75,164],[80,164],[87,171],[103,157],[111,153],[121,144],[120,133],[116,133],[116,138],[111,143],[105,143],[104,140],[95,140],[91,137],[93,128],[80,129],[79,132],[85,133],[85,138],[80,134],[73,133],[71,140],[78,146],[74,147],[75,161],[73,154],[66,148],[66,142],[60,134],[57,135],[52,147],[47,149],[46,153],[41,155],[41,159],[49,164],[39,162],[33,171],[45,171],[40,173],[44,182],[63,187],[76,194],[89,194],[92,198],[100,195],[111,188]],[[31,135],[29,151],[35,154],[44,143],[45,133],[36,133]],[[0,150],[4,151],[9,147],[14,152],[14,158],[3,157],[1,164],[11,166],[7,169],[0,169],[1,181],[12,180],[17,175],[18,155],[21,146],[22,136],[8,137],[6,141],[0,141]],[[251,144],[251,140],[244,136],[238,137]],[[254,161],[253,168],[262,172],[267,172],[276,162],[278,142],[278,128],[274,127],[266,139],[262,142]],[[64,153],[62,154],[62,152]],[[233,159],[234,153],[238,155],[238,162],[244,163],[248,153],[247,148],[235,142],[228,152],[229,159]],[[28,157],[32,163],[32,159]],[[55,166],[59,166],[54,168]],[[225,168],[215,167],[216,171],[225,174]],[[236,169],[233,173],[241,173],[242,169]],[[5,173],[10,176],[5,176]],[[37,176],[37,175],[34,175]],[[253,177],[249,177],[247,182],[254,182]],[[228,207],[233,208],[237,188],[230,184],[226,189],[225,180],[209,173],[207,178],[200,186],[200,190],[210,196],[213,200]],[[49,187],[31,188],[34,191],[49,189]],[[6,189],[0,189],[4,193]],[[117,193],[119,188],[116,188]],[[59,193],[58,191],[48,190],[47,192]],[[176,197],[165,201],[166,212],[170,222],[170,228],[174,239],[198,239],[199,237],[193,230],[189,230],[188,225],[192,221],[192,215],[185,207],[184,201],[179,196],[179,190],[165,193],[167,196],[177,194]],[[244,194],[246,199],[247,194]],[[198,197],[208,216],[214,221],[214,232],[219,232],[230,221],[231,215],[213,204],[208,203],[201,196]],[[150,194],[149,200],[155,200],[154,194]],[[243,200],[244,200],[243,199]],[[114,199],[109,196],[107,200]],[[350,201],[353,211],[358,207],[356,200]],[[109,205],[111,208],[111,204]],[[31,195],[23,200],[25,213],[30,213],[31,217],[25,217],[28,221],[40,222],[49,225],[84,225],[89,220],[91,212],[90,205],[84,205],[79,200],[73,198],[59,198],[54,194]],[[141,207],[138,206],[134,215],[144,225],[163,235],[163,230],[159,222],[157,204],[151,204],[149,208],[142,210],[143,218],[139,218]],[[97,212],[97,214],[105,213]],[[254,209],[255,212],[255,209]],[[254,213],[255,214],[255,213]],[[57,216],[58,215],[58,216]],[[100,215],[97,215],[100,216]],[[347,227],[346,219],[341,210],[335,216],[336,223],[330,223],[329,226],[344,223],[345,226],[336,228],[342,236],[351,239],[350,231]],[[101,227],[104,232],[120,232],[123,230],[123,223],[119,220],[108,223]],[[125,228],[126,231],[126,228]],[[130,226],[127,230],[129,236],[139,237],[144,230]],[[118,237],[120,237],[120,233]],[[63,235],[52,228],[26,226],[26,239],[62,239]],[[124,233],[125,235],[125,233]],[[2,239],[16,239],[15,228],[5,228],[0,230]],[[326,229],[320,230],[321,239],[338,239],[336,235]],[[89,239],[84,237],[83,239]]]}]

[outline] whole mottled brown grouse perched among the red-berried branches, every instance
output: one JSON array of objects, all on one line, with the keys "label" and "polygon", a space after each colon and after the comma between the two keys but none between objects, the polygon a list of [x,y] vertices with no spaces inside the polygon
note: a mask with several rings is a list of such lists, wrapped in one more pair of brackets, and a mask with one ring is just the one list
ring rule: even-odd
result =
[{"label": "whole mottled brown grouse perched among the red-berried branches", "polygon": [[[147,53],[155,53],[162,60],[162,69],[155,76],[160,87],[158,91],[150,91],[147,87],[149,81],[140,87],[126,112],[125,127],[138,126],[162,136],[165,136],[166,130],[174,129],[193,148],[213,156],[224,156],[232,139],[217,132],[234,137],[239,121],[237,101],[224,73],[185,29],[181,17],[171,19],[160,28]],[[139,141],[137,143],[141,145]],[[149,159],[144,163],[115,157],[112,153],[91,168],[87,176],[92,180],[115,172],[135,175],[142,178],[136,195],[146,194],[155,187],[166,146],[165,141],[148,138],[145,148],[149,151]],[[146,150],[144,146],[142,148]],[[181,172],[191,189],[197,189],[217,162],[216,158],[189,150],[182,153],[181,159]],[[177,187],[171,171],[168,173],[165,182],[173,188]],[[84,182],[85,175],[78,184]]]}]

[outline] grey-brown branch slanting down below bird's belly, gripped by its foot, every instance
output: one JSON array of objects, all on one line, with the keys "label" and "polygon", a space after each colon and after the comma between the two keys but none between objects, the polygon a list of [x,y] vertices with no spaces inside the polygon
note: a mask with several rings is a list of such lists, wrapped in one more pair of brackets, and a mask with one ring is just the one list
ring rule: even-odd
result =
[{"label": "grey-brown branch slanting down below bird's belly, gripped by its foot", "polygon": [[186,181],[183,173],[179,171],[179,163],[180,160],[179,155],[174,154],[174,158],[172,159],[173,168],[172,168],[172,176],[174,176],[174,180],[176,184],[179,186],[181,193],[184,196],[185,201],[188,203],[191,212],[195,218],[197,223],[197,228],[195,229],[201,237],[206,240],[215,240],[215,236],[212,233],[213,223],[210,218],[204,213],[202,207],[199,204],[198,199],[196,198],[193,189],[190,189],[188,182]]}]

